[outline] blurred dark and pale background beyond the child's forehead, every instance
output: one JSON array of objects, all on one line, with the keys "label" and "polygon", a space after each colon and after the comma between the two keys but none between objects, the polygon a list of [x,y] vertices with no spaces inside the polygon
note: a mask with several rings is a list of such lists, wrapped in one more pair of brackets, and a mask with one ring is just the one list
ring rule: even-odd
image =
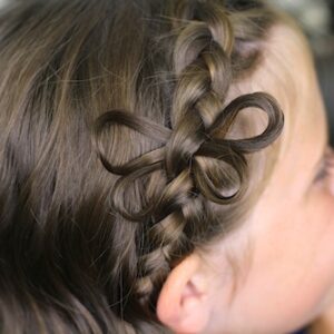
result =
[{"label": "blurred dark and pale background beyond the child's forehead", "polygon": [[[0,0],[0,7],[10,1],[13,0]],[[334,0],[267,1],[288,11],[311,41],[334,145]]]}]

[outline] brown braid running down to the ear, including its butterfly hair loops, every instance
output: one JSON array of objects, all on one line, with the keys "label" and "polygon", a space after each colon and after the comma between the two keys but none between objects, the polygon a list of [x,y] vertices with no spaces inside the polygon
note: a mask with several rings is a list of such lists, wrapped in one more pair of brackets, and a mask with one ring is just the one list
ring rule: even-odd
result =
[{"label": "brown braid running down to the ear, including its butterfly hair loops", "polygon": [[[120,176],[111,190],[112,208],[129,224],[140,224],[134,294],[151,308],[170,269],[209,229],[207,204],[227,205],[243,197],[248,180],[245,155],[271,145],[284,124],[279,106],[268,94],[246,94],[225,104],[235,73],[246,66],[240,66],[237,56],[238,62],[232,61],[235,30],[222,4],[178,1],[175,27],[180,32],[173,53],[177,85],[170,127],[136,115],[135,110],[114,109],[96,120],[94,136],[101,163]],[[267,114],[266,129],[246,139],[222,137],[238,112],[249,107]],[[124,165],[112,164],[100,140],[105,127],[111,124],[138,131],[159,147]],[[154,178],[156,174],[165,181],[157,184],[155,197],[147,198],[147,205],[137,212],[129,210],[126,190],[137,179]]]}]

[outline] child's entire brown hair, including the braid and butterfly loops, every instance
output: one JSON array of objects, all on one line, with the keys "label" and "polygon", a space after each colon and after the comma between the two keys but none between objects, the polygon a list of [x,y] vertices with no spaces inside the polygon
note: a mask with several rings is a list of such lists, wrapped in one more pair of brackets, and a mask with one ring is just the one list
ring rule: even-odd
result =
[{"label": "child's entire brown hair, including the braid and butterfly loops", "polygon": [[[0,332],[164,333],[159,291],[237,226],[274,97],[261,1],[24,0],[0,12]],[[240,110],[267,114],[227,139]],[[129,332],[127,332],[129,331]]]}]

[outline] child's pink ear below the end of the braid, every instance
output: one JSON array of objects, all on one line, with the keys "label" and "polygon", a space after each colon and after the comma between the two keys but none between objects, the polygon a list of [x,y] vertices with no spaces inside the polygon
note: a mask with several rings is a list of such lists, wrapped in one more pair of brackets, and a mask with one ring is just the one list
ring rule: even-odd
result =
[{"label": "child's pink ear below the end of the braid", "polygon": [[200,333],[212,311],[209,276],[193,253],[168,275],[157,303],[158,318],[176,333]]}]

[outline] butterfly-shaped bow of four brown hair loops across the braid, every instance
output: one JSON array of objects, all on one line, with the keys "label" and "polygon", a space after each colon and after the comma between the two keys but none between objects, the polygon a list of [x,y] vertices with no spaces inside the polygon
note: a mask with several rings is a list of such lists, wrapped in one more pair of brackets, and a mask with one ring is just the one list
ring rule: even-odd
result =
[{"label": "butterfly-shaped bow of four brown hair loops across the braid", "polygon": [[[237,140],[217,138],[216,135],[219,132],[220,128],[224,128],[225,132],[227,132],[237,114],[249,107],[259,108],[268,116],[267,127],[261,135]],[[199,114],[196,115],[198,116]],[[188,117],[189,116],[184,115],[180,122],[188,119]],[[191,117],[195,117],[195,115]],[[101,140],[99,140],[99,136],[107,124],[124,125],[165,146],[143,154],[140,157],[124,165],[115,166],[106,158],[104,146]],[[151,121],[147,117],[136,116],[128,111],[117,109],[105,112],[96,120],[94,128],[94,145],[97,148],[99,158],[105,168],[112,174],[121,176],[117,179],[111,191],[111,200],[115,209],[129,220],[140,222],[151,217],[153,213],[159,213],[159,203],[164,202],[164,196],[166,197],[168,187],[173,186],[174,178],[184,178],[186,176],[193,178],[193,183],[189,184],[188,189],[186,190],[190,191],[191,188],[195,187],[195,193],[200,193],[204,197],[214,203],[229,204],[237,200],[245,191],[245,175],[239,171],[245,170],[247,167],[244,155],[255,153],[268,146],[279,136],[283,125],[284,114],[277,101],[271,95],[265,92],[254,92],[237,97],[217,115],[216,119],[208,128],[205,128],[204,121],[202,120],[200,130],[197,130],[194,136],[191,136],[190,143],[183,146],[183,140],[187,141],[188,138],[180,138],[183,140],[179,140],[180,145],[177,146],[177,154],[171,156],[174,159],[173,164],[178,166],[176,175],[169,168],[168,144],[179,134]],[[185,147],[187,150],[184,149]],[[214,158],[228,164],[238,175],[239,189],[230,196],[224,196],[212,181],[209,177],[210,170],[203,168],[200,164],[197,163],[196,157]],[[244,168],[240,168],[240,166]],[[124,198],[125,186],[135,181],[137,178],[158,169],[164,169],[168,179],[167,188],[163,191],[161,197],[137,213],[129,213],[121,200],[121,198]],[[224,178],[224,175],[222,175],[222,178]],[[179,194],[178,198],[173,199],[174,208],[169,208],[167,212],[173,212],[176,205],[179,207],[183,206],[186,198],[184,198],[184,193],[180,191]],[[194,189],[191,194],[194,194]],[[164,217],[159,217],[157,220],[160,220],[161,218]]]}]

